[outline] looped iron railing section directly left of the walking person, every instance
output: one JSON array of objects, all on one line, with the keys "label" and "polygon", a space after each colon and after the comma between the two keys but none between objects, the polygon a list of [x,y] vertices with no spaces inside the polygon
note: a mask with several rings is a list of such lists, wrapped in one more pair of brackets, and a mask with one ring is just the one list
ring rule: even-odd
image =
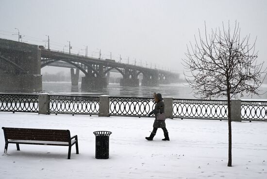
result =
[{"label": "looped iron railing section directly left of the walking person", "polygon": [[146,116],[154,109],[153,98],[110,97],[110,115]]}]

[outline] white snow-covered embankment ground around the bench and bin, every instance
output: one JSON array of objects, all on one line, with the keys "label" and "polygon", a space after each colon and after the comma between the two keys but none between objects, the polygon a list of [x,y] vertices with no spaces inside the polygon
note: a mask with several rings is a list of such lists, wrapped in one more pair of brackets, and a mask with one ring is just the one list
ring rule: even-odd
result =
[{"label": "white snow-covered embankment ground around the bench and bin", "polygon": [[[266,179],[267,123],[232,122],[233,167],[227,167],[227,121],[167,119],[145,140],[153,118],[0,113],[0,127],[68,129],[77,134],[80,154],[66,146],[10,144],[0,132],[0,179]],[[95,159],[93,131],[109,130],[110,158]]]}]

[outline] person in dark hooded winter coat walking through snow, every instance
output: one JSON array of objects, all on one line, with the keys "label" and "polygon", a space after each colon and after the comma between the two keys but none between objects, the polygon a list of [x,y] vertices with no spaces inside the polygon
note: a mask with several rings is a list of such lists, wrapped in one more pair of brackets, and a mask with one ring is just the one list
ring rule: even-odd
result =
[{"label": "person in dark hooded winter coat walking through snow", "polygon": [[153,93],[153,97],[155,99],[155,102],[156,102],[156,105],[155,105],[155,108],[154,110],[152,110],[150,113],[149,113],[149,117],[150,115],[152,114],[155,114],[155,121],[154,121],[154,124],[153,124],[153,130],[150,134],[149,137],[146,137],[147,140],[149,141],[152,141],[153,140],[153,137],[156,135],[156,132],[158,130],[158,128],[161,128],[164,132],[164,139],[162,139],[163,141],[169,141],[169,135],[168,135],[168,131],[166,129],[166,123],[165,123],[165,120],[158,120],[157,119],[157,116],[159,113],[164,113],[164,102],[162,101],[162,96],[160,93],[156,94],[156,93]]}]

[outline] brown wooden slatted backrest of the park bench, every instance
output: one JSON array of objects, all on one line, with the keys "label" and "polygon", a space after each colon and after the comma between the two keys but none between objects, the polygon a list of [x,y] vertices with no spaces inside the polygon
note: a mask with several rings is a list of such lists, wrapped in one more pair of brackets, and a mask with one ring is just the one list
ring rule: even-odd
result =
[{"label": "brown wooden slatted backrest of the park bench", "polygon": [[4,128],[5,140],[34,140],[34,141],[56,141],[69,142],[69,130],[50,129],[26,129],[26,128]]}]

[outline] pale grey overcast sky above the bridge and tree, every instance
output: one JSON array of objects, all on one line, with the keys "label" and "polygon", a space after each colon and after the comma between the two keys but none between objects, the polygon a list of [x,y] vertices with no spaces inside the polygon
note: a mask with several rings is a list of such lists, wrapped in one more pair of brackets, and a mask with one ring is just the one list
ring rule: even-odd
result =
[{"label": "pale grey overcast sky above the bridge and tree", "polygon": [[[0,38],[127,63],[179,70],[186,44],[222,21],[240,23],[241,33],[257,36],[259,61],[267,61],[267,0],[1,0]],[[34,38],[33,38],[34,37]]]}]

